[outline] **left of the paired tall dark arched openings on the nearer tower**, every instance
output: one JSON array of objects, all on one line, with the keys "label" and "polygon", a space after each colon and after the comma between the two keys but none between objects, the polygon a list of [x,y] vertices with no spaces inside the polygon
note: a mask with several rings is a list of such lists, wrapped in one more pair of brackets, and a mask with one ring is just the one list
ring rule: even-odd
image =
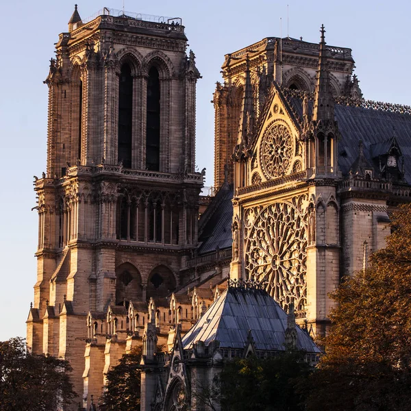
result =
[{"label": "left of the paired tall dark arched openings on the nearer tower", "polygon": [[128,64],[121,66],[119,86],[119,162],[132,167],[133,77]]}]

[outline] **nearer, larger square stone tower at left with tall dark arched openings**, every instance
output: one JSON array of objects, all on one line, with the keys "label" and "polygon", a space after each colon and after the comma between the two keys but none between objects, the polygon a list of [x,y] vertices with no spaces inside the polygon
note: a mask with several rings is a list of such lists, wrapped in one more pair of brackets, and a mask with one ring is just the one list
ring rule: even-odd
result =
[{"label": "nearer, larger square stone tower at left with tall dark arched openings", "polygon": [[50,60],[27,344],[69,360],[77,393],[88,312],[169,295],[197,245],[200,75],[186,47],[179,18],[105,8],[82,21],[76,5]]}]

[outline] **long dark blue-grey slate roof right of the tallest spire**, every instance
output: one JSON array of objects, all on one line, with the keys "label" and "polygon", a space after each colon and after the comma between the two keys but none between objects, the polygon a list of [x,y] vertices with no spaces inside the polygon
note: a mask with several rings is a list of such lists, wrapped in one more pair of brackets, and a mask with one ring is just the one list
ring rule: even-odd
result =
[{"label": "long dark blue-grey slate roof right of the tallest spire", "polygon": [[[300,99],[290,99],[297,113],[303,114]],[[364,155],[371,162],[375,156],[389,149],[395,134],[397,143],[404,157],[404,172],[408,184],[411,184],[411,116],[371,108],[351,105],[334,105],[336,121],[341,139],[338,141],[338,166],[343,175],[349,173],[353,162],[358,158],[358,144],[362,140]]]}]

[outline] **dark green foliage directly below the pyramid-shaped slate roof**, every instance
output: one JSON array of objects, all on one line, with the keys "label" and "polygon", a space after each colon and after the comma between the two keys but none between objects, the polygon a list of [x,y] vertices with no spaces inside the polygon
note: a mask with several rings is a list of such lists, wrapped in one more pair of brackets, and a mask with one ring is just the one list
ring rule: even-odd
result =
[{"label": "dark green foliage directly below the pyramid-shaped slate roof", "polygon": [[274,358],[236,358],[219,375],[223,411],[303,410],[297,395],[297,378],[306,379],[310,367],[301,353]]}]

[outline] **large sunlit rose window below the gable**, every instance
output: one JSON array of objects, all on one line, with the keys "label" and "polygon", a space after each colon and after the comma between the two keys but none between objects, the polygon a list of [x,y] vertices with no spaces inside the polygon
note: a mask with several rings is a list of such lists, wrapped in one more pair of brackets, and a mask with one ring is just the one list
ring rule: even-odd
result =
[{"label": "large sunlit rose window below the gable", "polygon": [[245,213],[245,271],[265,284],[284,310],[294,303],[304,311],[307,299],[307,218],[291,203],[274,203]]}]

